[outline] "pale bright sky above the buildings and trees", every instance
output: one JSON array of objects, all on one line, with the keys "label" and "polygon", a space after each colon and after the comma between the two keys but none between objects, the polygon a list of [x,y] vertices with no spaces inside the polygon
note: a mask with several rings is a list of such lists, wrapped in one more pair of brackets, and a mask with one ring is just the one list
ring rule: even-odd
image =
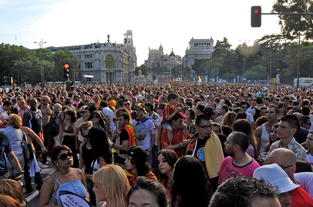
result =
[{"label": "pale bright sky above the buildings and trees", "polygon": [[122,0],[0,0],[0,41],[38,48],[82,45],[107,41],[121,43],[127,30],[133,32],[137,65],[148,59],[148,47],[164,53],[171,48],[185,54],[195,39],[227,37],[235,49],[239,40],[252,45],[265,34],[279,34],[276,15],[262,15],[262,26],[250,26],[250,7],[261,6],[270,13],[274,0],[220,1],[122,1]]}]

